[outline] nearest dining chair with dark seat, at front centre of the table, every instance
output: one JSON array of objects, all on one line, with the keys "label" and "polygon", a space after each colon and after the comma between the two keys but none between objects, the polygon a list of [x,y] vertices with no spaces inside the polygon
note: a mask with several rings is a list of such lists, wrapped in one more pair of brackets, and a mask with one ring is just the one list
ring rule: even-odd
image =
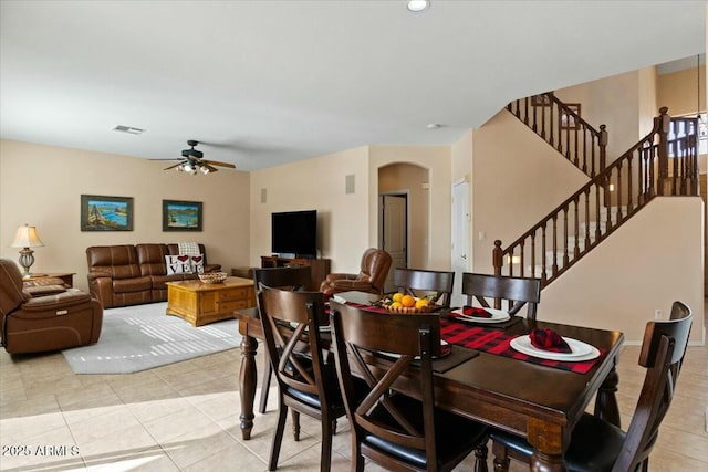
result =
[{"label": "nearest dining chair with dark seat, at front centre of the table", "polygon": [[[382,315],[336,302],[330,305],[340,390],[352,433],[352,470],[362,471],[368,458],[388,470],[449,471],[477,450],[477,470],[486,471],[487,427],[435,407],[433,356],[440,355],[439,316]],[[374,353],[386,353],[391,365]],[[365,396],[354,395],[353,371],[366,381]],[[420,397],[396,392],[398,381],[415,382]]]}]

